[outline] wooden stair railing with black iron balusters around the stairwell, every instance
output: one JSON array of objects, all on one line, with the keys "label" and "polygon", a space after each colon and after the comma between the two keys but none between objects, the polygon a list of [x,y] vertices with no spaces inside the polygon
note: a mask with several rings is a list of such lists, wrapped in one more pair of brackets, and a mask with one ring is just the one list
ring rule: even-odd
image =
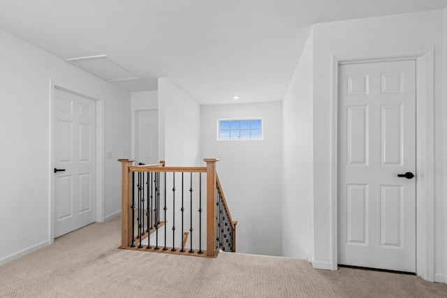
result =
[{"label": "wooden stair railing with black iron balusters around the stairwell", "polygon": [[[216,162],[219,159],[205,158],[203,161],[205,161],[206,167],[166,167],[164,161],[156,165],[134,166],[133,161],[129,161],[129,159],[119,159],[118,161],[122,163],[122,239],[120,248],[209,258],[217,257],[220,249],[235,251],[237,221],[231,219],[217,177]],[[168,173],[169,179],[172,179],[172,185],[170,185],[171,180],[167,179]],[[196,179],[198,177],[198,181],[193,181],[193,173],[196,175]],[[206,173],[206,204],[202,202],[202,176],[205,176],[202,173]],[[176,177],[177,180],[181,177],[180,193],[176,189],[179,187],[179,182],[175,182]],[[189,179],[190,184],[186,186],[186,189],[184,188],[184,177],[187,177],[186,181]],[[172,186],[171,190],[166,189],[168,184]],[[184,198],[186,197],[185,193],[188,193],[189,198]],[[193,205],[198,209],[194,209]],[[181,208],[179,208],[180,206]],[[206,234],[203,233],[205,229],[202,227],[202,211],[205,206]],[[168,214],[168,209],[172,209],[172,213]],[[189,211],[188,215],[191,216],[189,227],[184,227],[186,211]],[[219,213],[217,214],[217,212]],[[176,227],[175,223],[179,221],[179,214],[182,216],[181,231],[176,234],[179,227]],[[222,214],[225,214],[227,218],[222,219]],[[195,218],[195,223],[193,223],[193,218]],[[223,231],[223,223],[227,223],[227,225],[230,223],[230,230]],[[164,225],[163,233],[159,232],[162,225]],[[167,230],[172,230],[170,232],[171,239],[167,239]],[[228,235],[226,237],[231,236],[231,241],[228,238],[228,241],[225,241],[228,242],[226,246],[222,246],[221,243],[223,236],[217,236],[222,232]],[[155,246],[151,244],[149,234],[155,234]],[[206,250],[203,250],[202,240],[205,235]],[[177,243],[181,243],[182,247],[175,247],[176,237],[179,239]],[[193,237],[196,241],[194,243]],[[186,249],[188,238],[190,240],[189,250]],[[143,246],[142,242],[145,239],[147,239],[147,244]],[[172,240],[172,246],[168,247],[170,240]],[[163,247],[159,246],[160,241],[163,243],[161,245]]]}]

